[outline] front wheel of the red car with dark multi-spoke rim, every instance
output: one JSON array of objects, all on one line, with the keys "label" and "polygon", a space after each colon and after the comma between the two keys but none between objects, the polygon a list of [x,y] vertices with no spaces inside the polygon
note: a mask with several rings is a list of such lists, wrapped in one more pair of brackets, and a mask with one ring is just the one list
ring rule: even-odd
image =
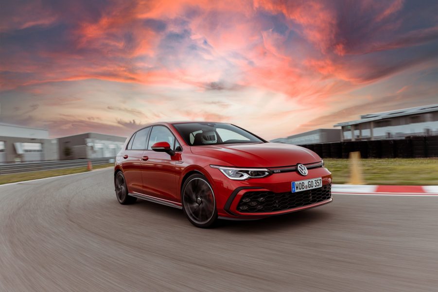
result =
[{"label": "front wheel of the red car with dark multi-spoke rim", "polygon": [[182,209],[190,223],[200,228],[214,227],[218,221],[216,199],[207,178],[192,174],[181,188]]}]

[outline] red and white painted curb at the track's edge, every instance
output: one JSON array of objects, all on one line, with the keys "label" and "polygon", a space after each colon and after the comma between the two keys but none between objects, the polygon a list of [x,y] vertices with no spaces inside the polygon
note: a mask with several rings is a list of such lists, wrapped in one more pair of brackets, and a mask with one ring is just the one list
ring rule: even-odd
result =
[{"label": "red and white painted curb at the track's edge", "polygon": [[438,196],[438,186],[332,185],[332,193],[374,196]]}]

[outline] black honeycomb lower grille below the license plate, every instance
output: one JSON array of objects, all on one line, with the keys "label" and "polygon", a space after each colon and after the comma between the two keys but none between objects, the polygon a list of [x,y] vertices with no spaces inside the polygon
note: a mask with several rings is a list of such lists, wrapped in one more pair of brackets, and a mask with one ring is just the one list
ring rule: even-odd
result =
[{"label": "black honeycomb lower grille below the license plate", "polygon": [[240,199],[237,210],[242,213],[275,212],[298,208],[330,199],[332,185],[305,191],[275,193],[248,191]]}]

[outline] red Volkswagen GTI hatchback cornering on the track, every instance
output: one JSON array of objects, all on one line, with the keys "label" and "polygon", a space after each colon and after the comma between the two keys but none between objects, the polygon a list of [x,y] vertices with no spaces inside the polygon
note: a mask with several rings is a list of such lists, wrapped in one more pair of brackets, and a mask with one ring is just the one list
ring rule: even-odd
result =
[{"label": "red Volkswagen GTI hatchback cornering on the track", "polygon": [[219,122],[158,122],[116,157],[116,195],[182,208],[197,227],[260,219],[332,202],[332,175],[314,152]]}]

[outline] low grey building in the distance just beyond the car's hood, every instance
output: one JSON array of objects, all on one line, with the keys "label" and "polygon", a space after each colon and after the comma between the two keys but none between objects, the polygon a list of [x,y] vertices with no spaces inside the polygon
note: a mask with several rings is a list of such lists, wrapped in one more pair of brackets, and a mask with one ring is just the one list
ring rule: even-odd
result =
[{"label": "low grey building in the distance just beyond the car's hood", "polygon": [[271,142],[304,145],[304,144],[315,144],[315,143],[339,142],[340,139],[341,139],[340,129],[317,129],[297,135],[292,135],[285,138],[277,138],[271,140]]}]

